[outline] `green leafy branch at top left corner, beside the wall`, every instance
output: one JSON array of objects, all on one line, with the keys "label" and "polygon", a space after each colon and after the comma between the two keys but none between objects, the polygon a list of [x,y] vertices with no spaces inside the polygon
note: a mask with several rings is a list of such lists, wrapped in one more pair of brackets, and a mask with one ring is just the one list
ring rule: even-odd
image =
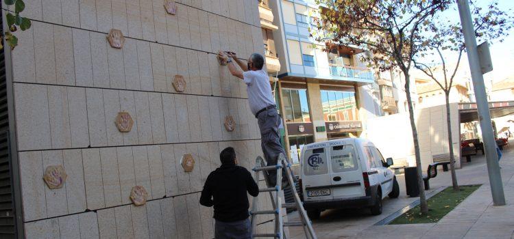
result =
[{"label": "green leafy branch at top left corner, beside the wall", "polygon": [[[2,10],[7,12],[5,18],[7,19],[9,29],[0,33],[0,50],[3,49],[3,38],[5,38],[5,42],[11,47],[11,50],[14,50],[14,47],[18,46],[18,38],[14,36],[14,32],[18,30],[18,27],[20,27],[22,31],[25,31],[30,28],[32,23],[29,18],[20,16],[20,12],[25,10],[23,0],[3,0],[3,3],[3,6],[14,5],[14,11],[2,8]],[[13,12],[14,14],[12,14]]]}]

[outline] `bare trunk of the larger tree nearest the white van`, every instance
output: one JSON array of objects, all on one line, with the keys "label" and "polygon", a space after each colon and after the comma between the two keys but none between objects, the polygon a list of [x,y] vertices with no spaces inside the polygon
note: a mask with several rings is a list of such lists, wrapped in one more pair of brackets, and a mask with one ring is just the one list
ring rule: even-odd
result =
[{"label": "bare trunk of the larger tree nearest the white van", "polygon": [[408,75],[408,71],[404,71],[405,76],[405,93],[407,96],[408,105],[408,117],[411,119],[411,129],[413,132],[414,141],[414,154],[416,156],[416,168],[417,168],[417,185],[419,187],[419,206],[422,214],[428,213],[428,204],[426,203],[425,197],[425,185],[423,183],[423,171],[421,170],[421,154],[419,154],[419,141],[417,140],[417,129],[416,123],[414,122],[414,109],[413,102],[411,99],[411,76]]}]

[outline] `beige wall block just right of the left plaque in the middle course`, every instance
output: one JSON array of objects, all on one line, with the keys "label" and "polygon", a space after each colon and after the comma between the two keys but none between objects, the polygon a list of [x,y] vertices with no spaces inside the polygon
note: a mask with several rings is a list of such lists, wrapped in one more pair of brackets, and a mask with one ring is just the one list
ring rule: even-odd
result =
[{"label": "beige wall block just right of the left plaque in the middle course", "polygon": [[134,92],[136,102],[136,122],[140,144],[152,143],[151,118],[147,92]]}]

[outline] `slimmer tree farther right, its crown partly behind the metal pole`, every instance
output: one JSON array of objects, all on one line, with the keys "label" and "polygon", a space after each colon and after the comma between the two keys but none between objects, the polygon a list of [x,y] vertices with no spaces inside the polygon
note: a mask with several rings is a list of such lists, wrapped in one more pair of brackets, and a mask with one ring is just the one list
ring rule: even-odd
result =
[{"label": "slimmer tree farther right, its crown partly behind the metal pole", "polygon": [[[474,30],[478,40],[487,41],[494,39],[503,42],[503,38],[508,35],[512,27],[513,14],[498,8],[498,3],[490,3],[487,8],[480,8],[472,2],[472,11],[474,17]],[[439,57],[439,66],[434,67],[435,60],[432,64],[424,64],[420,60],[414,59],[415,68],[424,72],[430,77],[445,93],[446,105],[446,124],[448,126],[448,149],[450,151],[450,169],[452,172],[452,186],[454,191],[458,191],[457,177],[455,173],[454,151],[452,141],[452,127],[450,118],[450,90],[453,87],[454,77],[461,62],[463,52],[465,52],[464,36],[461,28],[461,23],[458,20],[454,23],[451,20],[436,20],[429,23],[430,28],[430,43],[426,50],[428,54],[437,55]],[[456,61],[453,66],[448,66],[444,51],[453,51],[457,53]],[[437,53],[437,54],[436,54]],[[426,53],[421,53],[421,59],[424,58]],[[442,69],[438,70],[437,68]],[[438,74],[439,73],[439,74]],[[449,75],[451,74],[451,75]],[[441,80],[444,80],[444,82]]]}]

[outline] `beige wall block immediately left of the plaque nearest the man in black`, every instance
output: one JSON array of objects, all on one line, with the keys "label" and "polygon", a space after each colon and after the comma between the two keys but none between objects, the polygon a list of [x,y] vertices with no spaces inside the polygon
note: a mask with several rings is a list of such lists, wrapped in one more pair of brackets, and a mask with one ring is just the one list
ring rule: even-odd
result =
[{"label": "beige wall block immediately left of the plaque nearest the man in black", "polygon": [[160,152],[162,156],[162,170],[164,172],[166,196],[171,197],[173,195],[178,195],[177,168],[175,165],[175,152],[173,152],[173,145],[160,145]]}]

